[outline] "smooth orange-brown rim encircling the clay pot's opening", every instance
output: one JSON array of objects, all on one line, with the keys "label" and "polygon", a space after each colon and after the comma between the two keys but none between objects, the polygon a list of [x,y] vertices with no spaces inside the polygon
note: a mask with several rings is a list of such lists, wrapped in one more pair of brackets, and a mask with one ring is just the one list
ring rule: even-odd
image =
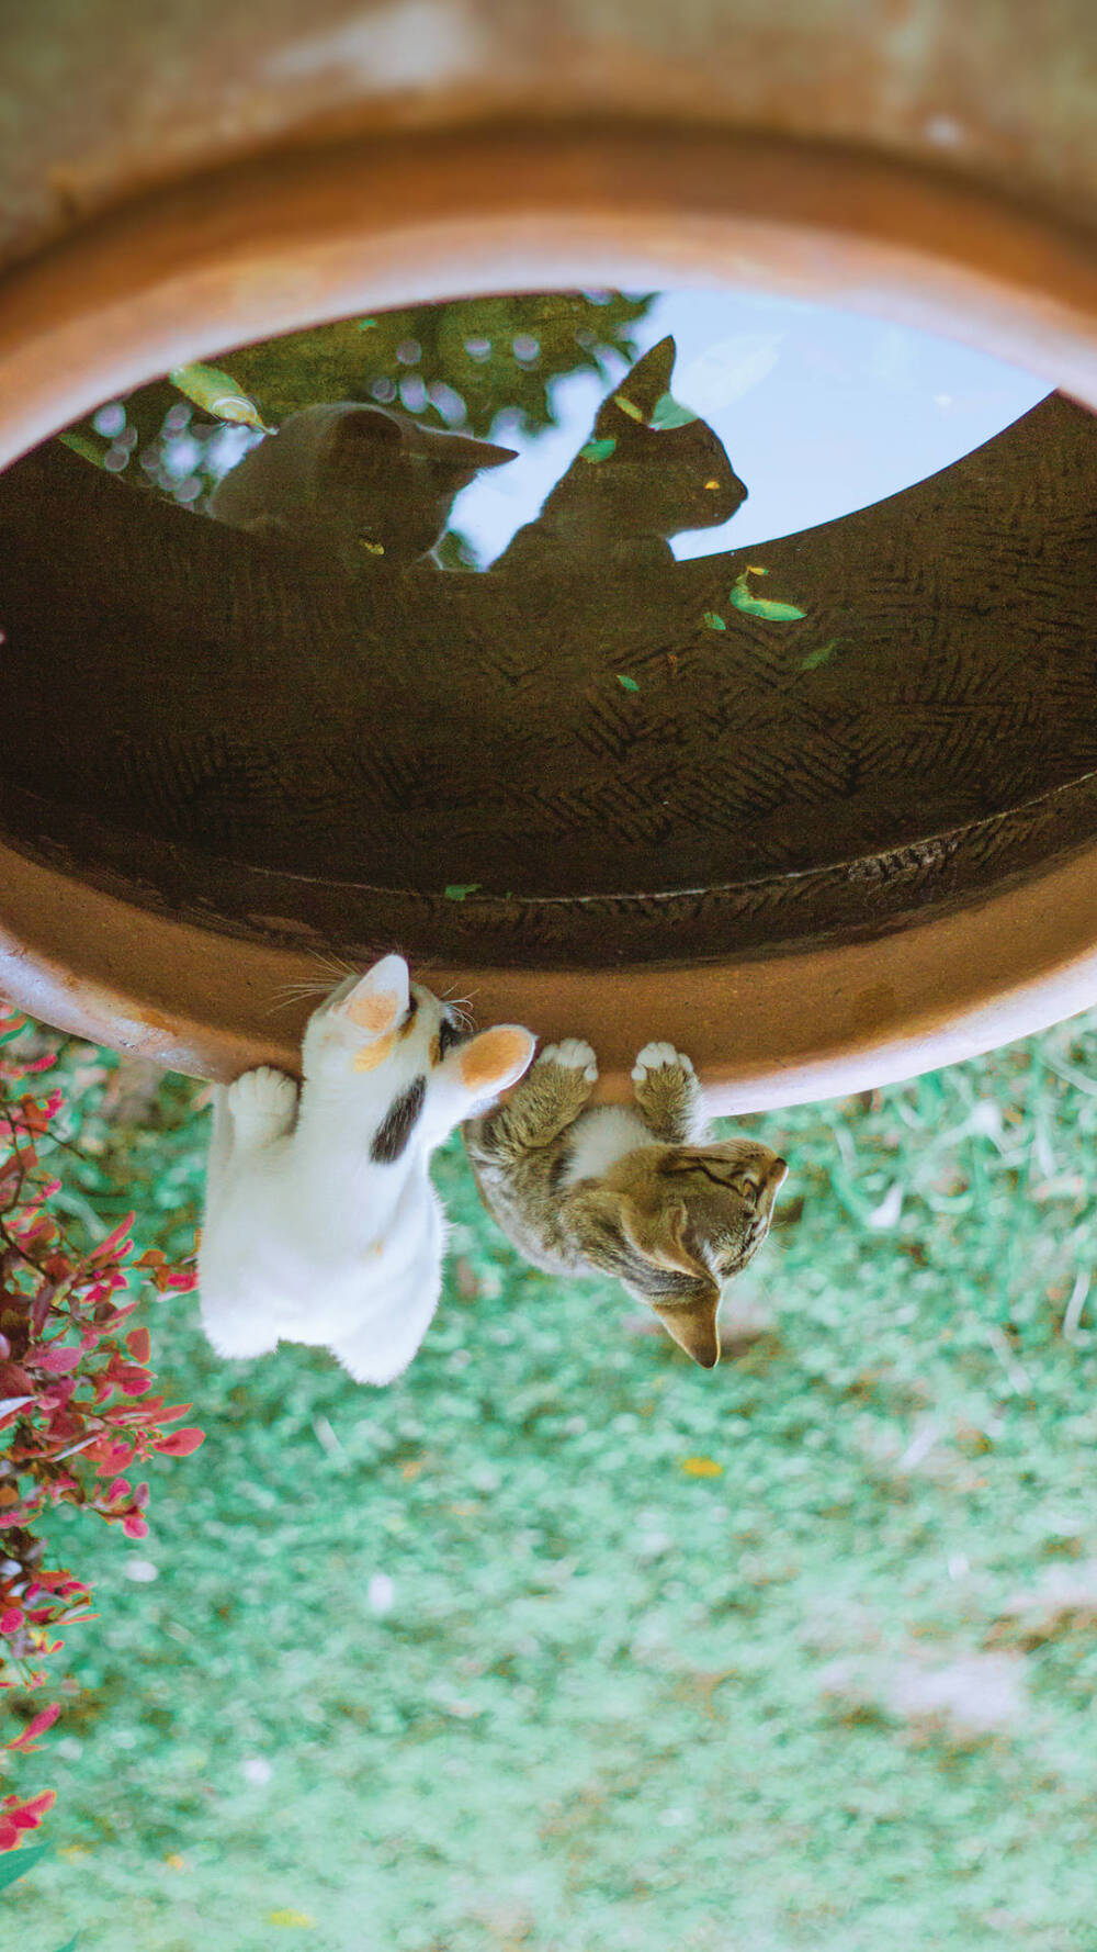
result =
[{"label": "smooth orange-brown rim encircling the clay pot's opening", "polygon": [[[962,338],[1097,410],[1097,265],[1052,209],[830,144],[498,123],[219,168],[16,267],[0,324],[0,463],[172,365],[355,310],[689,283],[763,287]],[[293,1068],[297,1023],[271,1035],[252,997],[260,972],[264,988],[287,982],[312,966],[305,955],[207,937],[4,847],[0,888],[0,980],[18,1001],[199,1076],[262,1058]],[[914,1076],[1087,1007],[1095,892],[1097,849],[1085,849],[874,945],[607,964],[574,980],[476,968],[445,980],[478,992],[484,1021],[525,1017],[547,1037],[586,1029],[607,1095],[627,1089],[634,1044],[660,1035],[691,1050],[722,1109],[779,1105]],[[867,955],[886,980],[865,982]]]}]

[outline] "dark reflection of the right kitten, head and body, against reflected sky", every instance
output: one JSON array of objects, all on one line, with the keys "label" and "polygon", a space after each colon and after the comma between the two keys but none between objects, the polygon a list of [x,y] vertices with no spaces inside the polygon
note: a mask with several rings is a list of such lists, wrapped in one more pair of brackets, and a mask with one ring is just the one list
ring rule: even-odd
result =
[{"label": "dark reflection of the right kitten, head and body, against reflected sky", "polygon": [[673,338],[603,400],[593,431],[492,570],[658,568],[681,529],[714,529],[746,488],[712,429],[671,398]]}]

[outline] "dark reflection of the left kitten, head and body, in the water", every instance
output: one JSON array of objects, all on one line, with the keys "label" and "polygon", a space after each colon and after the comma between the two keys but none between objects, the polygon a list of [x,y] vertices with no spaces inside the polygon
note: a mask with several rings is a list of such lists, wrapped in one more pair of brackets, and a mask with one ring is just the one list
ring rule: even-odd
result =
[{"label": "dark reflection of the left kitten, head and body, in the water", "polygon": [[511,447],[338,400],[301,408],[248,449],[209,511],[234,529],[322,550],[351,572],[406,568],[439,541],[457,492],[480,468],[513,459]]}]

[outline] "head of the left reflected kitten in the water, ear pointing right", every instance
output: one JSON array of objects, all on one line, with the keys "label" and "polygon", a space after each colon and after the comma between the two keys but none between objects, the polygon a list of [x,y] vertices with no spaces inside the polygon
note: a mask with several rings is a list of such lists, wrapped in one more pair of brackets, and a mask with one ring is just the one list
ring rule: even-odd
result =
[{"label": "head of the left reflected kitten in the water, ear pointing right", "polygon": [[361,541],[363,564],[371,554],[412,562],[443,535],[459,490],[513,459],[511,447],[344,402],[330,418],[318,486],[338,496],[340,527]]}]

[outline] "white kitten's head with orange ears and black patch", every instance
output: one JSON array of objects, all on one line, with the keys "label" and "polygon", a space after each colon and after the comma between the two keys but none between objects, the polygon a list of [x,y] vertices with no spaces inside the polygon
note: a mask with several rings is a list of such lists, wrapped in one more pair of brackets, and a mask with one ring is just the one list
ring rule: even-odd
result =
[{"label": "white kitten's head with orange ears and black patch", "polygon": [[312,1011],[303,1038],[305,1081],[340,1107],[347,1138],[369,1128],[375,1165],[414,1142],[437,1146],[525,1072],[537,1038],[517,1023],[472,1037],[461,1013],[412,982],[404,956],[347,976]]}]

